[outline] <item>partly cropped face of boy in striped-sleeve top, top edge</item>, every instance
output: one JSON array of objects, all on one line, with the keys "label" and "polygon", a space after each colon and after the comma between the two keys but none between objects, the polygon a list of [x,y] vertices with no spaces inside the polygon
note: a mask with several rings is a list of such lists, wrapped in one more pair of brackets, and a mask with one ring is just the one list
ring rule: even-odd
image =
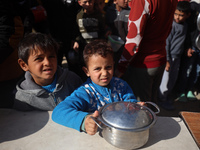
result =
[{"label": "partly cropped face of boy in striped-sleeve top, top edge", "polygon": [[78,3],[83,7],[85,13],[93,12],[94,0],[79,0]]}]

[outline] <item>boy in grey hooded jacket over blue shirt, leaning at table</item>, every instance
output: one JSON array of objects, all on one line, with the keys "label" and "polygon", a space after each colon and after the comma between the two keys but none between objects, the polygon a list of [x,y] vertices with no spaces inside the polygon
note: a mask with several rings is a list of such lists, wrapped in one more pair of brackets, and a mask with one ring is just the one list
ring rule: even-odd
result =
[{"label": "boy in grey hooded jacket over blue shirt, leaning at table", "polygon": [[25,78],[17,85],[14,108],[53,110],[82,84],[75,73],[57,66],[58,47],[41,33],[30,33],[21,41],[18,63]]}]

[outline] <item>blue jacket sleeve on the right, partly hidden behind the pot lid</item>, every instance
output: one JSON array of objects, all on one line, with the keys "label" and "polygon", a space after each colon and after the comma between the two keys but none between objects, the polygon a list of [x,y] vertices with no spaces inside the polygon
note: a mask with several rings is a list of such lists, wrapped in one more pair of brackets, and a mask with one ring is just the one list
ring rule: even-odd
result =
[{"label": "blue jacket sleeve on the right, partly hidden behind the pot lid", "polygon": [[131,102],[138,102],[131,87],[128,85],[127,82],[124,82],[124,91],[123,91],[123,101],[131,101]]}]

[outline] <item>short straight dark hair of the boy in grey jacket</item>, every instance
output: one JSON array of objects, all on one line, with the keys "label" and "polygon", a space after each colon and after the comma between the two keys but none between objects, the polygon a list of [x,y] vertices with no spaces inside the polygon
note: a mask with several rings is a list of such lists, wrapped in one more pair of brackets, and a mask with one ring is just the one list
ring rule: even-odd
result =
[{"label": "short straight dark hair of the boy in grey jacket", "polygon": [[28,58],[31,52],[38,50],[41,51],[54,51],[57,55],[59,44],[47,34],[42,33],[29,33],[19,43],[18,57],[28,64]]}]

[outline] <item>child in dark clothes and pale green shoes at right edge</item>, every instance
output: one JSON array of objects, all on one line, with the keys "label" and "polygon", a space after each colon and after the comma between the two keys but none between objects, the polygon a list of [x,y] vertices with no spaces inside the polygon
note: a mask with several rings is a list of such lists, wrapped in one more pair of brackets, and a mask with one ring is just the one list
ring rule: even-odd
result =
[{"label": "child in dark clothes and pale green shoes at right edge", "polygon": [[187,19],[188,34],[186,39],[186,53],[182,55],[179,80],[177,83],[179,97],[178,100],[187,102],[196,100],[194,91],[195,84],[200,76],[200,51],[196,46],[196,38],[199,35],[197,28],[197,16],[200,13],[200,4],[190,2],[191,15]]}]

